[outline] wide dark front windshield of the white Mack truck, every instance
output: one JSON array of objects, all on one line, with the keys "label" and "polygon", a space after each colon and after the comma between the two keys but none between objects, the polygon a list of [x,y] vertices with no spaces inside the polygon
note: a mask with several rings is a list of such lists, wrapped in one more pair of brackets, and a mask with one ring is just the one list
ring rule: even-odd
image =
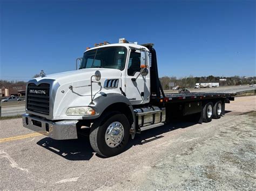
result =
[{"label": "wide dark front windshield of the white Mack truck", "polygon": [[123,70],[127,49],[123,46],[111,46],[92,49],[84,53],[79,69],[114,68]]}]

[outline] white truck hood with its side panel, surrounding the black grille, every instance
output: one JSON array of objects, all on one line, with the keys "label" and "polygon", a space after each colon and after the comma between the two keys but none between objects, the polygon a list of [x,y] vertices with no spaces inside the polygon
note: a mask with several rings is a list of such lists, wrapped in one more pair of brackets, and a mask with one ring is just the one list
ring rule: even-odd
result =
[{"label": "white truck hood with its side panel, surrounding the black grille", "polygon": [[[100,83],[91,84],[91,76],[95,75],[96,71],[101,74]],[[106,80],[118,79],[116,88],[105,88],[104,82]],[[96,82],[95,77],[92,80]],[[44,117],[53,120],[53,118],[66,118],[66,110],[69,107],[86,107],[91,102],[91,95],[96,99],[103,94],[121,94],[119,87],[122,84],[122,71],[111,68],[86,68],[73,70],[70,72],[63,72],[57,74],[50,74],[44,77],[37,77],[30,80],[28,83],[50,83],[50,116]],[[72,87],[72,88],[70,88]],[[33,114],[33,113],[32,113]],[[60,117],[62,116],[62,117]]]}]

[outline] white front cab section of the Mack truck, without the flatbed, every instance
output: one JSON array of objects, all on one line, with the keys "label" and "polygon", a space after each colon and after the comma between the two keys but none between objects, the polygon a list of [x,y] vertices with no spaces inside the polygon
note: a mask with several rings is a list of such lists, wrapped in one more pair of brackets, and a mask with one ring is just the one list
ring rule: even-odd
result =
[{"label": "white front cab section of the Mack truck, without the flatbed", "polygon": [[[23,125],[53,139],[75,139],[81,126],[97,128],[107,118],[119,116],[124,124],[107,127],[111,137],[108,140],[112,140],[108,144],[117,147],[124,135],[125,141],[129,133],[134,137],[136,125],[157,122],[153,113],[158,113],[159,122],[163,121],[159,118],[160,108],[146,107],[151,98],[150,55],[146,46],[125,39],[87,48],[77,59],[77,70],[43,75],[28,82]],[[154,112],[144,119],[144,110]],[[140,113],[137,122],[134,112]],[[97,139],[97,135],[91,139]]]}]

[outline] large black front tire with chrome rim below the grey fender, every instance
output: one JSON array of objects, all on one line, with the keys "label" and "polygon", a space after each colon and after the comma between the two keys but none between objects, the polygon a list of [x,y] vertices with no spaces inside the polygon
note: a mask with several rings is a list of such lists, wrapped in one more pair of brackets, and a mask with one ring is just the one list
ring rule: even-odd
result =
[{"label": "large black front tire with chrome rim below the grey fender", "polygon": [[125,150],[130,137],[130,123],[124,114],[113,112],[93,123],[90,144],[103,157],[112,157]]}]

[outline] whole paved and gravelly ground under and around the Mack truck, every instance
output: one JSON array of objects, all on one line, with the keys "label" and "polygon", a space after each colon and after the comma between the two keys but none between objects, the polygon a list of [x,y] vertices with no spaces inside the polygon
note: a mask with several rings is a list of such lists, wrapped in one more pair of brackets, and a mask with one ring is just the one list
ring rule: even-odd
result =
[{"label": "whole paved and gravelly ground under and around the Mack truck", "polygon": [[32,136],[21,119],[0,121],[0,189],[254,190],[255,107],[256,96],[235,98],[221,119],[147,130],[112,158],[87,139]]}]

